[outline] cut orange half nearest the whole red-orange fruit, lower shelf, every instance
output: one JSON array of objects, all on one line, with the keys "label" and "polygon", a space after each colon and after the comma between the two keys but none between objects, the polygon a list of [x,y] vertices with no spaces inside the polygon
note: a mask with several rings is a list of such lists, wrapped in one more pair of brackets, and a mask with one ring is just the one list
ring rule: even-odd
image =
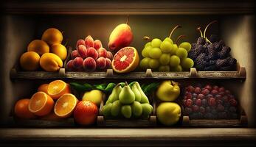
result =
[{"label": "cut orange half nearest the whole red-orange fruit, lower shelf", "polygon": [[55,115],[58,115],[60,118],[68,118],[75,110],[77,102],[78,100],[74,95],[70,93],[63,94],[55,103]]}]

